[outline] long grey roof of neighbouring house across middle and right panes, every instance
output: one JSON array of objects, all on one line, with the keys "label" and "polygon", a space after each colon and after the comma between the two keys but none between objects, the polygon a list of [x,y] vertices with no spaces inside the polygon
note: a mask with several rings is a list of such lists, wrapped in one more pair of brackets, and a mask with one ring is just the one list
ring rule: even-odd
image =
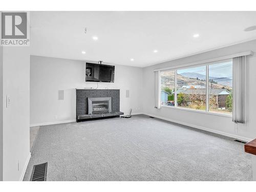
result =
[{"label": "long grey roof of neighbouring house across middle and right panes", "polygon": [[[184,93],[184,94],[205,94],[205,89],[179,89],[177,90],[177,94]],[[230,95],[230,92],[226,89],[209,89],[210,95]]]}]

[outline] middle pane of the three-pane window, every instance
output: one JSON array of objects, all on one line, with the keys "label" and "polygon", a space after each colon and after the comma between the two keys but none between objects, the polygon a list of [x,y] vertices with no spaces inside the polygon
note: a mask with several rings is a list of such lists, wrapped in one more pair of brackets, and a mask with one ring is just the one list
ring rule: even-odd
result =
[{"label": "middle pane of the three-pane window", "polygon": [[177,70],[177,106],[205,111],[206,67]]}]

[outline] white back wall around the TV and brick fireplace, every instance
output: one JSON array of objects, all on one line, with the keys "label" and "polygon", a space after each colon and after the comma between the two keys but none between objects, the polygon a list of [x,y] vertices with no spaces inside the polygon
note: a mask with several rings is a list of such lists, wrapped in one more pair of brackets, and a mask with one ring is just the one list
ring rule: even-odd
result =
[{"label": "white back wall around the TV and brick fireplace", "polygon": [[[31,56],[30,68],[32,126],[75,120],[75,89],[97,86],[96,82],[85,81],[85,61]],[[115,65],[115,82],[98,84],[98,89],[120,89],[120,111],[141,111],[142,68]],[[64,90],[64,100],[58,100],[58,90]],[[130,90],[130,98],[125,97],[125,90]]]}]

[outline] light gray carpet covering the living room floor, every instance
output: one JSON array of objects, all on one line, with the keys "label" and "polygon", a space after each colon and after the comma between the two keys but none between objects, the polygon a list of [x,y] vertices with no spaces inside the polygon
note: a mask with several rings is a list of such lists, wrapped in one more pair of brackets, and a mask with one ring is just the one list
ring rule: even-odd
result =
[{"label": "light gray carpet covering the living room floor", "polygon": [[133,116],[41,126],[24,180],[48,162],[48,181],[248,181],[250,156],[232,138]]}]

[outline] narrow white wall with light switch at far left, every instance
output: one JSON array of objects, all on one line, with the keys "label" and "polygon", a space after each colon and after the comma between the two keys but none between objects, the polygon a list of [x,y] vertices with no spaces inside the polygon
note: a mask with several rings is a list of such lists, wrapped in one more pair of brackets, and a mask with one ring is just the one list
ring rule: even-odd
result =
[{"label": "narrow white wall with light switch at far left", "polygon": [[[23,179],[29,151],[28,47],[3,48],[3,180]],[[11,103],[6,108],[6,95]],[[18,170],[19,162],[19,170]]]}]

